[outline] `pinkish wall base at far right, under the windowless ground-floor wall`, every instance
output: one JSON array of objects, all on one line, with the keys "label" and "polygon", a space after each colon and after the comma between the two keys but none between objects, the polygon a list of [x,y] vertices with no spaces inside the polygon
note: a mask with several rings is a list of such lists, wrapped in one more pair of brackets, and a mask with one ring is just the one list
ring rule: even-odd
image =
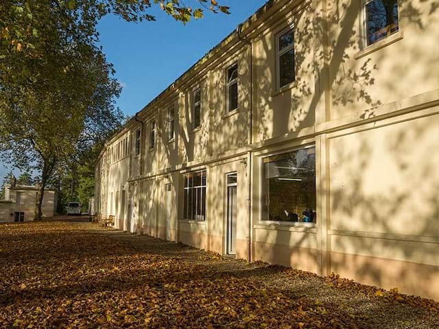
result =
[{"label": "pinkish wall base at far right, under the windowless ground-floor wall", "polygon": [[439,300],[439,267],[331,252],[331,271],[384,289]]}]

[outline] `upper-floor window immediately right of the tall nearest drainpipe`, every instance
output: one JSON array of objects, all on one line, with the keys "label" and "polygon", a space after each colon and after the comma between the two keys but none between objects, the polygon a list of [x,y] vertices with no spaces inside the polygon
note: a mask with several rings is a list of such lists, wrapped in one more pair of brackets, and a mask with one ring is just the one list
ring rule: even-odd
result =
[{"label": "upper-floor window immediately right of the tall nearest drainpipe", "polygon": [[277,37],[278,88],[294,82],[294,29]]}]

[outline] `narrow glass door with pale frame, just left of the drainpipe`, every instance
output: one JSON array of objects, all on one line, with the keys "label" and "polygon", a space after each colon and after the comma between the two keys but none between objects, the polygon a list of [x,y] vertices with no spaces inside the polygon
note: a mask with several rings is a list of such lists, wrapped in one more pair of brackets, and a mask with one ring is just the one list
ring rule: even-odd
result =
[{"label": "narrow glass door with pale frame, just left of the drainpipe", "polygon": [[226,253],[236,254],[237,173],[227,175],[227,241]]}]

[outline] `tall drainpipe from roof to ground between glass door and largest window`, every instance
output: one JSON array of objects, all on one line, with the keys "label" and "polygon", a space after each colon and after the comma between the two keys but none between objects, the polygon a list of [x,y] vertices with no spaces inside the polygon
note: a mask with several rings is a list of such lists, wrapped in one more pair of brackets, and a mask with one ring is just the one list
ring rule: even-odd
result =
[{"label": "tall drainpipe from roof to ground between glass door and largest window", "polygon": [[[237,26],[236,29],[238,39],[241,42],[246,43],[250,46],[250,110],[248,113],[248,145],[252,145],[253,143],[253,45],[250,40],[244,39],[241,37],[242,32],[242,23]],[[247,179],[248,179],[248,196],[247,196],[247,204],[248,204],[248,262],[252,261],[252,151],[247,152]]]}]

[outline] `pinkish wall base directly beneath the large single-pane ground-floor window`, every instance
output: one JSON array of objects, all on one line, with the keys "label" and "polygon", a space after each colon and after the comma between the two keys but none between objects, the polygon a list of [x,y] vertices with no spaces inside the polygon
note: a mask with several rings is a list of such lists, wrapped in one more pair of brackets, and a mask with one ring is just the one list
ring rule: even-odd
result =
[{"label": "pinkish wall base directly beneath the large single-pane ground-floor window", "polygon": [[316,249],[254,242],[253,250],[253,260],[263,260],[270,264],[318,273],[318,251]]}]

